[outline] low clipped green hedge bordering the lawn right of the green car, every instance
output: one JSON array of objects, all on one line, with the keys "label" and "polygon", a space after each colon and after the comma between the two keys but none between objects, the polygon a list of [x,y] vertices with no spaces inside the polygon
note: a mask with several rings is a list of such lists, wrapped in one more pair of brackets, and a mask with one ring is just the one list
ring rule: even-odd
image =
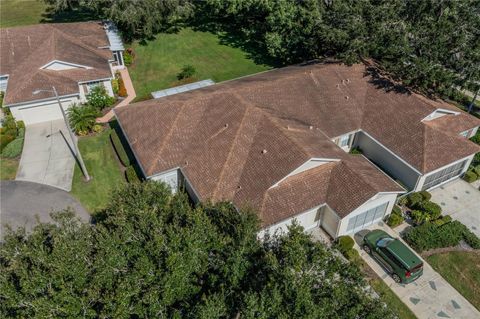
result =
[{"label": "low clipped green hedge bordering the lawn right of the green car", "polygon": [[480,239],[459,221],[453,221],[441,226],[427,222],[421,226],[414,227],[405,235],[405,241],[418,252],[457,246],[462,239],[472,248],[480,247]]}]

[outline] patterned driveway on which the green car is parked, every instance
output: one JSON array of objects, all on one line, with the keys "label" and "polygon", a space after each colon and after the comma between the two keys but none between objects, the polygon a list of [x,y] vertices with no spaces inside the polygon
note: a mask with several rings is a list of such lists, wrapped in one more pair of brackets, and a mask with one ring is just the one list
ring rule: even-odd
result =
[{"label": "patterned driveway on which the green car is parked", "polygon": [[[399,234],[383,223],[372,225],[370,229],[382,229],[391,236]],[[408,285],[397,284],[390,275],[358,245],[355,249],[367,264],[383,279],[392,291],[410,308],[419,319],[473,319],[480,318],[480,312],[470,304],[455,288],[424,260],[423,275]]]}]

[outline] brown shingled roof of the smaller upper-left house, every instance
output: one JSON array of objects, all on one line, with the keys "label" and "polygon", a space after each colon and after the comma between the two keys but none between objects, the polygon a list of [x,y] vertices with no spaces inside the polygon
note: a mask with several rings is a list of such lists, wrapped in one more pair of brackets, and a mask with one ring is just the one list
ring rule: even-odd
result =
[{"label": "brown shingled roof of the smaller upper-left house", "polygon": [[[78,82],[112,76],[109,41],[101,22],[39,24],[0,30],[0,74],[8,74],[5,104],[51,97],[33,95],[55,86],[59,95],[78,93]],[[54,71],[52,61],[86,66]]]}]

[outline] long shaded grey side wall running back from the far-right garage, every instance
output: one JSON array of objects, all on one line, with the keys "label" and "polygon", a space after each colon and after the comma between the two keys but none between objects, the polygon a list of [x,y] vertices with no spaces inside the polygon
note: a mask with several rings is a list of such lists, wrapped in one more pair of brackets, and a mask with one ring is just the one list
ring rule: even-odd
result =
[{"label": "long shaded grey side wall running back from the far-right garage", "polygon": [[359,147],[365,157],[394,179],[400,180],[408,190],[415,188],[420,174],[368,135],[363,132],[357,133],[353,146]]}]

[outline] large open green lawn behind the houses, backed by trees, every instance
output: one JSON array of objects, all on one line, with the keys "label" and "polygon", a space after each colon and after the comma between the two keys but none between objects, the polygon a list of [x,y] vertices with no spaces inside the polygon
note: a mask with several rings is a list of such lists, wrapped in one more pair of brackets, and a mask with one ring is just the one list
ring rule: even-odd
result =
[{"label": "large open green lawn behind the houses, backed by trees", "polygon": [[137,99],[178,85],[177,74],[184,65],[196,69],[196,80],[225,81],[270,69],[253,62],[239,48],[220,44],[217,35],[186,28],[175,34],[161,33],[145,45],[132,45],[136,58],[128,69]]}]

